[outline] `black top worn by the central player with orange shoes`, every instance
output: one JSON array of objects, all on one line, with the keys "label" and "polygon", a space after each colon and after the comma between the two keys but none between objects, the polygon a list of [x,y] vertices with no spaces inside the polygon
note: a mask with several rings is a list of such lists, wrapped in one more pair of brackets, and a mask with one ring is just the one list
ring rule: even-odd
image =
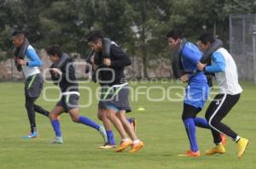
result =
[{"label": "black top worn by the central player with orange shoes", "polygon": [[111,65],[103,65],[102,53],[97,53],[94,62],[99,65],[96,70],[98,74],[98,79],[101,85],[113,86],[115,84],[122,84],[125,82],[124,68],[125,66],[131,65],[131,59],[128,54],[122,48],[119,48],[117,44],[112,42],[110,47],[110,60]]}]

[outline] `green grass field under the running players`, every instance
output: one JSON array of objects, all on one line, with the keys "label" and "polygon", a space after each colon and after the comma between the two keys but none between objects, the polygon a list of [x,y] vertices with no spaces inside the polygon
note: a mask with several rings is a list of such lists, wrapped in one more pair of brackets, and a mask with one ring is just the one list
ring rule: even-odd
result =
[{"label": "green grass field under the running players", "polygon": [[[131,85],[142,87],[142,83]],[[176,83],[152,83],[148,87],[170,87]],[[224,119],[241,136],[249,138],[250,144],[241,160],[236,158],[236,144],[230,139],[224,155],[205,156],[199,158],[178,157],[184,150],[189,149],[183,123],[181,121],[182,102],[171,102],[168,99],[159,102],[149,102],[146,95],[138,95],[137,101],[132,101],[133,112],[128,116],[137,118],[137,135],[144,141],[144,148],[137,154],[128,151],[115,153],[114,149],[96,149],[102,144],[102,137],[93,129],[75,124],[68,115],[61,115],[61,129],[64,144],[49,144],[54,138],[54,132],[49,120],[43,115],[37,115],[40,137],[25,140],[21,136],[28,132],[28,119],[24,107],[23,84],[21,82],[0,83],[0,169],[66,169],[66,168],[168,168],[168,169],[254,169],[256,167],[256,87],[251,82],[241,83],[244,92],[236,107]],[[45,85],[52,87],[52,85]],[[180,85],[179,85],[180,86]],[[80,87],[91,87],[94,83],[81,84]],[[167,89],[166,89],[167,90]],[[174,98],[175,90],[169,93]],[[87,93],[81,90],[80,104],[88,103]],[[47,96],[55,99],[56,91],[48,91]],[[94,92],[92,93],[94,94]],[[160,99],[161,91],[150,90],[149,97]],[[80,109],[82,115],[100,122],[96,118],[96,99],[90,100],[92,105]],[[46,102],[43,96],[38,104],[51,110],[55,102]],[[208,104],[208,102],[207,102]],[[137,108],[145,108],[138,112]],[[203,116],[205,109],[199,114]],[[115,132],[116,141],[119,135]],[[197,130],[198,144],[201,153],[212,147],[211,132],[205,129]]]}]

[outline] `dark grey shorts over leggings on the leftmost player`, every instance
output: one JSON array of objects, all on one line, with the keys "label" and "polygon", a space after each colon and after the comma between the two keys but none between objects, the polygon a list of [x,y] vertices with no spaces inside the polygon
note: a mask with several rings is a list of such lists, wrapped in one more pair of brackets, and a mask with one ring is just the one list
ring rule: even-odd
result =
[{"label": "dark grey shorts over leggings on the leftmost player", "polygon": [[41,74],[28,76],[25,82],[25,95],[30,98],[38,98],[43,89],[43,77]]}]

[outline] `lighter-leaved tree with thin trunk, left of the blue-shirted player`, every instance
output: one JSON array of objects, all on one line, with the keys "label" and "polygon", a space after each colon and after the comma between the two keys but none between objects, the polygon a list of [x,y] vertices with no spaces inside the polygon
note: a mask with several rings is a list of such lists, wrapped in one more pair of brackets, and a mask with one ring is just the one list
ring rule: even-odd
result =
[{"label": "lighter-leaved tree with thin trunk, left of the blue-shirted player", "polygon": [[166,25],[170,1],[129,0],[133,10],[132,31],[137,55],[142,55],[143,76],[148,77],[148,60],[155,59],[166,49]]}]

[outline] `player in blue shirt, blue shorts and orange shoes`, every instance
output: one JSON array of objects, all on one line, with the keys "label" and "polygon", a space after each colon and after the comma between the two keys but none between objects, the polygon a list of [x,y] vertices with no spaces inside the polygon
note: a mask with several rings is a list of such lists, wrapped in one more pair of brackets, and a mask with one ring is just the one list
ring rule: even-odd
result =
[{"label": "player in blue shirt, blue shorts and orange shoes", "polygon": [[184,42],[186,40],[183,37],[183,31],[180,29],[172,29],[172,31],[167,33],[166,37],[168,45],[172,49],[180,48],[180,45],[183,44],[179,54],[184,71],[181,81],[188,82],[183,101],[182,120],[189,138],[190,149],[183,155],[178,156],[200,156],[201,153],[198,149],[195,136],[195,125],[207,127],[207,120],[196,117],[196,115],[203,108],[209,93],[207,77],[203,72],[198,72],[196,68],[197,62],[201,59],[202,54],[195,44]]}]

